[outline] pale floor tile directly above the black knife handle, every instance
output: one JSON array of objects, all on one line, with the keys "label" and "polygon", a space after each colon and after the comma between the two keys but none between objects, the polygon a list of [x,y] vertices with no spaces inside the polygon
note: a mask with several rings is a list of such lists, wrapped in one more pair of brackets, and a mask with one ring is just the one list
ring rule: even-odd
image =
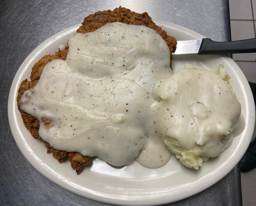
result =
[{"label": "pale floor tile directly above the black knife handle", "polygon": [[253,21],[230,21],[230,27],[233,41],[255,38]]}]

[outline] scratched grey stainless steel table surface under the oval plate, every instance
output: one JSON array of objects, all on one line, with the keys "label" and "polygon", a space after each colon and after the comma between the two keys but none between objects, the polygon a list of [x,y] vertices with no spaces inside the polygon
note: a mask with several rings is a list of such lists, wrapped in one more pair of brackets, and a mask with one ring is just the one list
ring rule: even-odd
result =
[{"label": "scratched grey stainless steel table surface under the oval plate", "polygon": [[[75,195],[46,179],[23,157],[12,137],[7,101],[14,75],[44,40],[85,16],[122,5],[154,19],[190,28],[213,40],[230,40],[228,0],[1,0],[0,1],[0,205],[108,205]],[[167,205],[241,205],[240,169],[203,192]]]}]

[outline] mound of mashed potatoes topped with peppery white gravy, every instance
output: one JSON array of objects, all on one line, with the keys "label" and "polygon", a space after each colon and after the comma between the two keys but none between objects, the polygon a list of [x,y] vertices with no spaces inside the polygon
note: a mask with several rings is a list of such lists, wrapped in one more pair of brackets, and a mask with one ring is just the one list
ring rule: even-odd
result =
[{"label": "mound of mashed potatoes topped with peppery white gravy", "polygon": [[217,72],[186,65],[155,85],[154,109],[165,130],[166,146],[186,167],[198,169],[232,143],[241,105],[223,65]]}]

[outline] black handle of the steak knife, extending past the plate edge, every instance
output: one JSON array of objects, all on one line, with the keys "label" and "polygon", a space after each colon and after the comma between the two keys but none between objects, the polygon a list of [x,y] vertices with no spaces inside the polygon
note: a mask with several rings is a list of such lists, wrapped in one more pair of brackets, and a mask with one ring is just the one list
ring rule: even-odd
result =
[{"label": "black handle of the steak knife, extending past the plate edge", "polygon": [[256,38],[239,41],[217,42],[203,38],[198,55],[204,54],[236,54],[256,52]]}]

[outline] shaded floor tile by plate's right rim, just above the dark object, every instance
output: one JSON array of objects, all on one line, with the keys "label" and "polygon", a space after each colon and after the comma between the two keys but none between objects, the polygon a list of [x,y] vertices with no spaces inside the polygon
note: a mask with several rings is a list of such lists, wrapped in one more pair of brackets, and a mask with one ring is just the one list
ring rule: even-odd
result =
[{"label": "shaded floor tile by plate's right rim, just above the dark object", "polygon": [[256,62],[236,61],[249,82],[256,83]]}]

